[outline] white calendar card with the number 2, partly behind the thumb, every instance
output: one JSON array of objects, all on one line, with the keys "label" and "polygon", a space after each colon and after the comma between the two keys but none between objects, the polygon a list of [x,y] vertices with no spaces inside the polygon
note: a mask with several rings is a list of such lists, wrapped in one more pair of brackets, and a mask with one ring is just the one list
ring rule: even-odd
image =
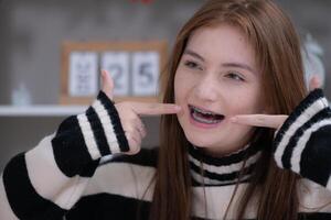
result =
[{"label": "white calendar card with the number 2, partly behind the thumb", "polygon": [[106,69],[114,80],[115,96],[129,96],[129,53],[106,52],[102,55],[102,69]]}]

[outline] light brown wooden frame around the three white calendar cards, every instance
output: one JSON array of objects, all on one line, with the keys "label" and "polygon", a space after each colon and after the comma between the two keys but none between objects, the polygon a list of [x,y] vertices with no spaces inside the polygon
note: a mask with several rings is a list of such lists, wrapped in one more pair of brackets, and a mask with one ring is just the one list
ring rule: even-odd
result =
[{"label": "light brown wooden frame around the three white calendar cards", "polygon": [[[139,54],[153,52],[158,54],[158,64],[159,64],[159,75],[158,75],[158,88],[160,88],[160,73],[166,67],[168,44],[166,41],[154,41],[154,42],[64,42],[62,45],[62,66],[61,66],[61,95],[60,103],[61,105],[90,105],[92,100],[95,99],[96,94],[92,96],[72,96],[70,92],[70,61],[71,54],[74,52],[79,53],[96,53],[98,57],[100,54],[111,52],[120,53],[126,52],[128,54]],[[100,62],[98,58],[98,69],[100,69]],[[131,68],[131,67],[130,67]],[[130,69],[131,72],[131,69]],[[99,79],[99,70],[97,70]],[[132,79],[130,79],[132,80]],[[98,80],[99,81],[99,80]],[[134,84],[134,82],[131,82]],[[98,82],[99,90],[99,82]],[[115,96],[115,101],[124,100],[135,100],[135,101],[158,101],[159,94],[157,96]]]}]

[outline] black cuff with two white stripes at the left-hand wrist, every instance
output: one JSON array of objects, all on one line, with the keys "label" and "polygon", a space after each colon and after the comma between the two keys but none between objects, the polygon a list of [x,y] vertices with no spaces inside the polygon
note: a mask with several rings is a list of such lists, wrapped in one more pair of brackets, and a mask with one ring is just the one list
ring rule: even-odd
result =
[{"label": "black cuff with two white stripes at the left-hand wrist", "polygon": [[61,123],[52,147],[56,164],[68,177],[103,156],[129,151],[115,105],[103,91],[84,113]]}]

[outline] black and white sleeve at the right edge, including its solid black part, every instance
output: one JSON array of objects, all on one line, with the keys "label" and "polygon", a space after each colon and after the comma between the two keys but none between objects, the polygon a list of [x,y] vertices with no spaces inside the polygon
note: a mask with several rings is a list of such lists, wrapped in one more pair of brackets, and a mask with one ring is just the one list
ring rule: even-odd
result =
[{"label": "black and white sleeve at the right edge, including its solid black part", "polygon": [[279,167],[331,189],[331,110],[321,89],[300,102],[274,143]]}]

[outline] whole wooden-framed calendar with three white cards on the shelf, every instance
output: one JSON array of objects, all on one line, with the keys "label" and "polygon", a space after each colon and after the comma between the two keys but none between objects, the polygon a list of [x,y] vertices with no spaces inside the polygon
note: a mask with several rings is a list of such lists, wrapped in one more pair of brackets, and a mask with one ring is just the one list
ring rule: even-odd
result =
[{"label": "whole wooden-framed calendar with three white cards on the shelf", "polygon": [[116,101],[159,100],[167,43],[65,42],[62,55],[62,105],[89,105],[100,89],[100,69],[111,75]]}]

